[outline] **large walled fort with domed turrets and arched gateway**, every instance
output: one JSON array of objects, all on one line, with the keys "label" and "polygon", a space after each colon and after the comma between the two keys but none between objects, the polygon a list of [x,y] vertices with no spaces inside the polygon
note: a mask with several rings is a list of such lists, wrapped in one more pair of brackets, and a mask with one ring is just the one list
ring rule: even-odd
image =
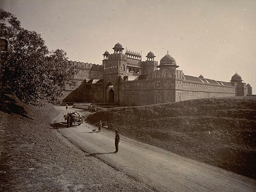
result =
[{"label": "large walled fort with domed turrets and arched gateway", "polygon": [[67,87],[63,102],[109,102],[117,105],[151,105],[188,99],[252,95],[250,84],[243,83],[239,74],[230,82],[184,75],[174,58],[167,54],[158,65],[154,53],[147,60],[141,53],[117,43],[113,53],[103,54],[102,65],[70,61],[78,65],[75,88]]}]

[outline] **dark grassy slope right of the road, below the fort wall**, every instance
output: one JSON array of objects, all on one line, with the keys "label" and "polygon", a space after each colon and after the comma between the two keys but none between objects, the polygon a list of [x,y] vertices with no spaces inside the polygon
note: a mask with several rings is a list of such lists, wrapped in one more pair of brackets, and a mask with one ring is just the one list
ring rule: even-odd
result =
[{"label": "dark grassy slope right of the road, below the fort wall", "polygon": [[101,110],[90,123],[256,179],[256,97],[195,99]]}]

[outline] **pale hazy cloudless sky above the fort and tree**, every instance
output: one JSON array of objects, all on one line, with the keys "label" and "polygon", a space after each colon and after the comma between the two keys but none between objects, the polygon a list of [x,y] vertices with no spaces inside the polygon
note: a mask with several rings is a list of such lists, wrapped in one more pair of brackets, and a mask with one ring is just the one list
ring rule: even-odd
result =
[{"label": "pale hazy cloudless sky above the fort and tree", "polygon": [[102,64],[117,43],[169,54],[185,75],[230,81],[236,71],[256,94],[256,0],[0,0],[49,50]]}]

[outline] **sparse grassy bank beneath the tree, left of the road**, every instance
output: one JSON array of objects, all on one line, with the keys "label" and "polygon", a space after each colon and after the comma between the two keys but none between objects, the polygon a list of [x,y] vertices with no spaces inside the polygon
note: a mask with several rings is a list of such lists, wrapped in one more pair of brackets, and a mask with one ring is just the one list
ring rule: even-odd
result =
[{"label": "sparse grassy bank beneath the tree, left of the road", "polygon": [[134,180],[57,137],[52,105],[0,94],[0,191],[146,191]]}]

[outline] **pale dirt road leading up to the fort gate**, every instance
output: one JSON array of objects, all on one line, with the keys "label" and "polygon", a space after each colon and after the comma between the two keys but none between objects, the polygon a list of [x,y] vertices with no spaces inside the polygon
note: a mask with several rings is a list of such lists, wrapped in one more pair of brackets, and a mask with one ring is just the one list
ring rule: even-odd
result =
[{"label": "pale dirt road leading up to the fort gate", "polygon": [[[63,122],[63,107],[55,108],[60,113],[54,119],[54,123]],[[89,113],[70,108],[69,111]],[[58,128],[56,133],[88,153],[88,157],[98,158],[102,163],[133,178],[149,190],[256,191],[256,180],[181,157],[161,148],[138,143],[122,137],[122,133],[120,133],[119,153],[115,154],[113,153],[114,133],[104,128],[101,133],[93,132],[93,128],[96,127],[83,123],[72,128]]]}]

